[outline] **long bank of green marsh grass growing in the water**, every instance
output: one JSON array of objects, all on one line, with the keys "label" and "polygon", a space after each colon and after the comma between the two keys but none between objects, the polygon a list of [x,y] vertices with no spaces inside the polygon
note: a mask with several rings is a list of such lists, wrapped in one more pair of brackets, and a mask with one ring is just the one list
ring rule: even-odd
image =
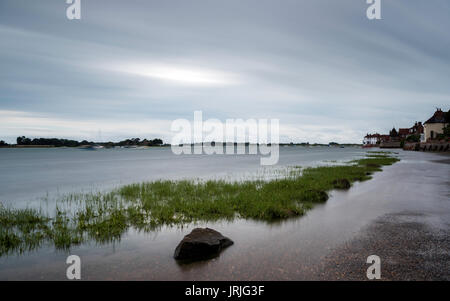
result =
[{"label": "long bank of green marsh grass growing in the water", "polygon": [[53,217],[32,209],[0,207],[0,256],[22,253],[43,243],[67,249],[83,241],[120,240],[130,228],[152,231],[162,226],[235,218],[275,221],[303,215],[328,199],[328,191],[347,189],[391,165],[397,158],[370,154],[347,165],[293,168],[272,181],[155,181],[123,186],[109,193],[69,195]]}]

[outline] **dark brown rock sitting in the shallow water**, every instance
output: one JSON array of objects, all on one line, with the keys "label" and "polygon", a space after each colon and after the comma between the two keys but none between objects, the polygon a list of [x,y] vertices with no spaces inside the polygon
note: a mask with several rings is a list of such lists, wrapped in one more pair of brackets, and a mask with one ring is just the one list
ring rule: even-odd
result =
[{"label": "dark brown rock sitting in the shallow water", "polygon": [[223,249],[231,246],[233,241],[219,232],[209,228],[196,228],[186,235],[175,249],[177,260],[201,260],[211,258]]}]

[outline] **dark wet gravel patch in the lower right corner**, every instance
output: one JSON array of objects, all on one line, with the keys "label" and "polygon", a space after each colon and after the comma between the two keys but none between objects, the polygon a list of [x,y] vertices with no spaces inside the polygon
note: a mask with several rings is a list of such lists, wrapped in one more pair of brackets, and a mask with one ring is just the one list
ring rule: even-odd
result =
[{"label": "dark wet gravel patch in the lower right corner", "polygon": [[450,280],[450,230],[434,229],[418,212],[389,214],[321,263],[324,280],[362,280],[367,254],[381,259],[381,280]]}]

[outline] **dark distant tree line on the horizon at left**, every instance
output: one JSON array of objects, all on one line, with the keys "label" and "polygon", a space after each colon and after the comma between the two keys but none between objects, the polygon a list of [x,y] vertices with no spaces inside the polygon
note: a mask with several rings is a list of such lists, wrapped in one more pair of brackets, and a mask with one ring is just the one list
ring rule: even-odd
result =
[{"label": "dark distant tree line on the horizon at left", "polygon": [[[2,142],[0,142],[0,146],[2,146]],[[4,144],[6,145],[6,143]],[[81,145],[103,145],[105,147],[114,147],[114,146],[160,146],[163,145],[163,141],[159,138],[153,140],[141,140],[140,138],[131,138],[126,139],[120,142],[92,142],[83,140],[81,142],[76,140],[69,139],[58,139],[58,138],[34,138],[30,139],[25,136],[17,137],[17,145],[48,145],[54,147],[77,147]]]}]

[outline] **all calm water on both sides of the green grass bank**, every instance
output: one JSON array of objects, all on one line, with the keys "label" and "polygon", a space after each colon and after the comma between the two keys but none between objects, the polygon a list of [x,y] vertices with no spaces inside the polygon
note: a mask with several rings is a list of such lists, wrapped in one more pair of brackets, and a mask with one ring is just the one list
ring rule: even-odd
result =
[{"label": "all calm water on both sides of the green grass bank", "polygon": [[[362,156],[359,148],[280,149],[279,165],[312,166]],[[315,279],[315,268],[332,248],[354,237],[377,217],[399,211],[430,213],[433,227],[450,224],[449,165],[446,157],[399,151],[401,162],[349,191],[334,191],[324,205],[281,223],[238,220],[130,230],[120,242],[95,243],[69,252],[43,247],[0,258],[0,279],[65,279],[65,259],[82,260],[82,279],[283,280]],[[263,171],[262,174],[265,174]],[[170,149],[99,150],[0,149],[0,199],[13,205],[39,202],[42,195],[159,178],[248,178],[261,174],[257,156],[174,156]],[[269,172],[270,174],[270,172]],[[235,242],[213,260],[179,265],[173,251],[196,226],[212,227]]]}]

